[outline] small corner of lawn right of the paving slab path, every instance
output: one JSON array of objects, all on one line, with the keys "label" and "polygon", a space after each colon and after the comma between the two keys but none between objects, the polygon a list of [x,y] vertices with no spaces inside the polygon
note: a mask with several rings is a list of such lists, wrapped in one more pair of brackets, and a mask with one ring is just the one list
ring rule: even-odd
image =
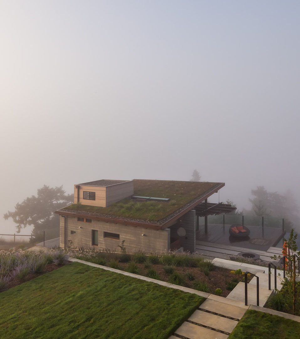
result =
[{"label": "small corner of lawn right of the paving slab path", "polygon": [[299,339],[299,337],[299,322],[248,310],[228,339]]}]

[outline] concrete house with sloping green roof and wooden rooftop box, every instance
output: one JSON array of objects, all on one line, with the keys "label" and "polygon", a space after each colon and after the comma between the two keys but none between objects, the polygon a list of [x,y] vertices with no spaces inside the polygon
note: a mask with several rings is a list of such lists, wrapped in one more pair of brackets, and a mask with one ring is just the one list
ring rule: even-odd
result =
[{"label": "concrete house with sloping green roof and wooden rooftop box", "polygon": [[225,184],[170,180],[96,180],[74,185],[74,204],[60,215],[60,247],[109,248],[125,240],[127,252],[195,251],[199,217],[234,207],[208,203]]}]

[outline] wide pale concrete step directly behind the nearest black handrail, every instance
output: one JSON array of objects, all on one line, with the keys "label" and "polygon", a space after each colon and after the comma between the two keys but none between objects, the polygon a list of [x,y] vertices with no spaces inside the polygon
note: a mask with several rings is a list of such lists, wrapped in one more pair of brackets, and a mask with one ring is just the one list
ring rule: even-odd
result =
[{"label": "wide pale concrete step directly behind the nearest black handrail", "polygon": [[[248,305],[257,305],[257,290],[256,284],[248,284]],[[273,290],[268,290],[268,288],[259,287],[259,306],[263,307],[266,303],[267,299],[271,294],[273,294]],[[227,296],[228,299],[245,301],[245,283],[239,282],[233,291],[229,293]]]}]

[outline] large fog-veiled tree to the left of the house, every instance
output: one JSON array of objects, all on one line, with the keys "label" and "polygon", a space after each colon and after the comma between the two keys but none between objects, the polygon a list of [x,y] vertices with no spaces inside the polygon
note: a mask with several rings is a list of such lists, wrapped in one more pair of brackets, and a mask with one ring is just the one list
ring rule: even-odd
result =
[{"label": "large fog-veiled tree to the left of the house", "polygon": [[59,217],[56,210],[73,203],[73,195],[66,194],[63,186],[49,187],[44,185],[38,189],[37,196],[27,197],[21,204],[17,203],[15,211],[8,211],[4,219],[12,218],[17,224],[17,233],[27,225],[33,225],[31,234],[36,241],[42,240],[43,231],[49,237],[58,237]]}]

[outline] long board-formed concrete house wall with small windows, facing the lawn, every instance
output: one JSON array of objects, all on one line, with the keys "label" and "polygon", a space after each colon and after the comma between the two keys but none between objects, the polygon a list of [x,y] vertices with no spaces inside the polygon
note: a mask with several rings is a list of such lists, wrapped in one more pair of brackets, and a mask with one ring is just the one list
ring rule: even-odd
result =
[{"label": "long board-formed concrete house wall with small windows, facing the lawn", "polygon": [[[109,248],[111,251],[120,252],[118,245],[121,245],[122,240],[125,240],[124,246],[127,253],[133,253],[134,250],[138,249],[146,252],[158,252],[169,250],[170,248],[169,229],[153,230],[152,228],[97,220],[92,220],[91,223],[82,222],[77,221],[75,217],[66,217],[66,245],[70,240],[72,241],[72,247],[92,247],[92,230],[98,231],[98,246],[95,246],[96,249]],[[120,234],[120,239],[104,237],[104,232]],[[64,248],[64,218],[62,216],[60,216],[60,247]]]}]

